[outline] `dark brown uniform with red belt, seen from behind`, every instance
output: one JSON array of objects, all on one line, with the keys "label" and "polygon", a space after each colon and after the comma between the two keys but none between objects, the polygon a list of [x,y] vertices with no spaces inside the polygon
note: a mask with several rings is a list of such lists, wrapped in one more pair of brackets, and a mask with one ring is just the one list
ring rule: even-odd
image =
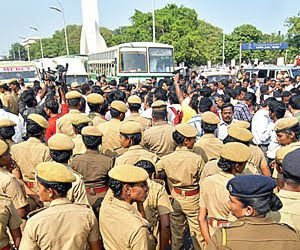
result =
[{"label": "dark brown uniform with red belt, seen from behind", "polygon": [[108,190],[108,171],[113,166],[112,158],[87,149],[86,153],[76,155],[70,165],[82,175],[91,206],[99,208],[102,201],[99,198],[103,198]]}]

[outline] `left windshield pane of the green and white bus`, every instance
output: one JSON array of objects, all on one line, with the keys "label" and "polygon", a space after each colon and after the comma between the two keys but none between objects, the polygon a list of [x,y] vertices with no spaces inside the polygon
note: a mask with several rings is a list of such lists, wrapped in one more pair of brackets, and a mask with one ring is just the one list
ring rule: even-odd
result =
[{"label": "left windshield pane of the green and white bus", "polygon": [[120,72],[147,72],[146,48],[121,48]]}]

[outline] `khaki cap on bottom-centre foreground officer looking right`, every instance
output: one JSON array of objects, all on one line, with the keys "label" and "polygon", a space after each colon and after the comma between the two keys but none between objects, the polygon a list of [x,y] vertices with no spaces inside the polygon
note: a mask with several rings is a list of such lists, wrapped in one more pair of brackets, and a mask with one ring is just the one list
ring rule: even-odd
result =
[{"label": "khaki cap on bottom-centre foreground officer looking right", "polygon": [[108,172],[108,176],[114,180],[125,183],[143,182],[148,179],[148,173],[146,170],[127,164],[113,167]]}]

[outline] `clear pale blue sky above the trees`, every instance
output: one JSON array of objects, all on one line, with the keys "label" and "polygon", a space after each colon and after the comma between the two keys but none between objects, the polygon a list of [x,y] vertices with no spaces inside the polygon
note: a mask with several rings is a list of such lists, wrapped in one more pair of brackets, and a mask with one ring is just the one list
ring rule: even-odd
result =
[{"label": "clear pale blue sky above the trees", "polygon": [[[67,24],[81,24],[81,0],[61,0]],[[156,8],[176,3],[193,8],[199,19],[223,28],[225,32],[242,24],[252,24],[264,33],[286,33],[287,17],[300,11],[299,0],[155,0]],[[152,0],[98,0],[100,25],[110,29],[129,25],[134,10],[152,10]],[[29,29],[36,26],[42,37],[50,37],[63,28],[62,17],[49,9],[58,6],[56,0],[2,0],[0,7],[0,55],[7,54],[13,42],[21,42],[20,36],[37,36]]]}]

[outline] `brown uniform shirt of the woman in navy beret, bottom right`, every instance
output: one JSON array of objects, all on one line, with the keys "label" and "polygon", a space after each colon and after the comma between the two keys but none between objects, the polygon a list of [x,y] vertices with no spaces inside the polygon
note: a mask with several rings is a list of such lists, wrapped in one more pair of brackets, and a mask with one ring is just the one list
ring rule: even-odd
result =
[{"label": "brown uniform shirt of the woman in navy beret, bottom right", "polygon": [[266,218],[243,217],[218,229],[208,243],[207,250],[296,250],[299,246],[299,236],[287,226]]}]

